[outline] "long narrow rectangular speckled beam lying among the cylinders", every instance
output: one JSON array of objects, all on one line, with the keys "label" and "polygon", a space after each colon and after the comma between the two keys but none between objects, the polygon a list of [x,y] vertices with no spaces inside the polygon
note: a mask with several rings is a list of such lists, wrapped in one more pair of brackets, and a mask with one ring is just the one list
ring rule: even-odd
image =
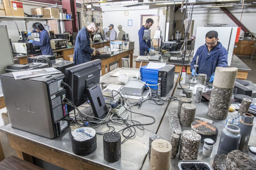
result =
[{"label": "long narrow rectangular speckled beam lying among the cylinders", "polygon": [[170,129],[171,129],[171,135],[176,133],[180,136],[182,130],[181,130],[181,126],[179,123],[177,111],[169,110],[168,119],[169,119],[169,125],[170,125]]}]

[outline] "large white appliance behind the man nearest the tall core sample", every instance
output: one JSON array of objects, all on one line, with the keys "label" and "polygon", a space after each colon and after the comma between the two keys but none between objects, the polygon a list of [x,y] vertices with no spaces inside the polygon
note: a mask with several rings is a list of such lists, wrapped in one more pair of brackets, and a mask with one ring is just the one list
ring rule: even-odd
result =
[{"label": "large white appliance behind the man nearest the tall core sample", "polygon": [[219,42],[221,42],[222,46],[228,50],[228,65],[230,65],[235,45],[237,27],[197,27],[194,54],[201,45],[205,44],[206,33],[212,30],[218,32]]}]

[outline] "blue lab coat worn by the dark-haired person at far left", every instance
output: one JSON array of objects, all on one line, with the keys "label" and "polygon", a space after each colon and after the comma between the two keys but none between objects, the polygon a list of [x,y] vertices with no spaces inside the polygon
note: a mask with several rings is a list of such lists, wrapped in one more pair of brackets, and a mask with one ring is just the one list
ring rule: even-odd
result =
[{"label": "blue lab coat worn by the dark-haired person at far left", "polygon": [[[36,30],[33,30],[33,33],[37,33]],[[42,32],[39,32],[40,41],[33,41],[33,45],[40,46],[41,52],[43,55],[53,56],[53,52],[51,49],[50,36],[48,31],[45,29]]]}]

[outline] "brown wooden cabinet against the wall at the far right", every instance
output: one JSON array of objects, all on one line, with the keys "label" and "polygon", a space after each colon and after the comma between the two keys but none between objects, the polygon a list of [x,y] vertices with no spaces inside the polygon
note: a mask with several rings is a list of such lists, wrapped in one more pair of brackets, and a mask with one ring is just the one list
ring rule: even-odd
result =
[{"label": "brown wooden cabinet against the wall at the far right", "polygon": [[235,43],[237,48],[234,48],[233,53],[239,54],[239,55],[251,55],[253,52],[253,46],[254,46],[255,40],[239,40]]}]

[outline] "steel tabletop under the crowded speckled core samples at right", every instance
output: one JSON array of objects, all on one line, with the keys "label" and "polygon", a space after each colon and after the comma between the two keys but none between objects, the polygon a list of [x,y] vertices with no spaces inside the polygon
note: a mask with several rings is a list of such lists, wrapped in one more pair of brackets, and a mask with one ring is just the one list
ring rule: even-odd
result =
[{"label": "steel tabletop under the crowded speckled core samples at right", "polygon": [[[188,75],[186,76],[186,80],[187,80],[186,81],[186,84],[187,84]],[[248,82],[250,82],[250,81],[248,81]],[[251,83],[250,83],[249,87],[255,88],[255,86]],[[173,96],[174,97],[179,97],[180,93],[182,93],[182,90],[181,89],[176,89]],[[218,151],[220,135],[221,135],[222,129],[225,128],[226,120],[217,120],[217,119],[213,119],[213,118],[209,117],[207,115],[208,101],[202,97],[202,102],[201,103],[195,103],[194,98],[195,98],[195,95],[192,95],[192,99],[193,99],[192,104],[194,104],[197,107],[195,116],[213,120],[213,125],[216,126],[218,128],[218,131],[219,131],[218,132],[218,138],[217,138],[216,143],[214,144],[211,156],[205,156],[203,154],[203,144],[202,143],[200,143],[200,146],[199,146],[199,153],[198,153],[197,160],[205,160],[205,161],[209,162],[212,165],[213,159],[216,156],[217,151]],[[256,98],[253,98],[252,103],[256,103]],[[166,114],[164,115],[164,119],[161,122],[160,128],[158,129],[158,132],[157,132],[157,135],[159,135],[160,137],[162,137],[163,139],[165,139],[167,141],[171,141],[170,126],[169,126],[169,121],[168,121],[168,111],[169,110],[177,110],[177,105],[178,105],[178,101],[172,101],[170,103],[170,105],[169,105],[169,107],[166,111]],[[232,116],[235,113],[237,113],[237,111],[228,112],[228,117]],[[253,123],[254,124],[256,123],[256,118],[254,118]],[[190,127],[184,127],[184,126],[181,126],[181,129],[182,130],[191,130]],[[255,128],[255,125],[254,125],[253,130],[251,132],[251,138],[250,139],[251,140],[255,139],[255,135],[256,135],[256,128]],[[251,142],[251,140],[250,140],[250,142]],[[249,142],[249,144],[250,144],[250,142]],[[179,169],[178,168],[178,162],[179,162],[180,159],[178,158],[178,156],[179,156],[179,154],[176,155],[175,159],[171,159],[170,170]],[[143,170],[149,169],[149,167],[150,167],[149,163],[150,163],[150,159],[147,156],[142,169]]]}]

